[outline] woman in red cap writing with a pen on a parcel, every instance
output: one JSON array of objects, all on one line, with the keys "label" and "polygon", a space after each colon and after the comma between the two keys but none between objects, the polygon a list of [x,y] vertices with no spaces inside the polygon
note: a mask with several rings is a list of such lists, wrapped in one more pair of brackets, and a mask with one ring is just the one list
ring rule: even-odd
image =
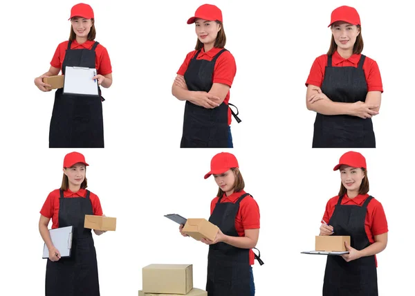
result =
[{"label": "woman in red cap writing with a pen on a parcel", "polygon": [[387,220],[382,204],[369,196],[365,157],[354,151],[344,154],[334,167],[340,169],[338,196],[329,200],[320,235],[345,235],[349,254],[328,256],[324,296],[376,296],[376,254],[387,246]]}]

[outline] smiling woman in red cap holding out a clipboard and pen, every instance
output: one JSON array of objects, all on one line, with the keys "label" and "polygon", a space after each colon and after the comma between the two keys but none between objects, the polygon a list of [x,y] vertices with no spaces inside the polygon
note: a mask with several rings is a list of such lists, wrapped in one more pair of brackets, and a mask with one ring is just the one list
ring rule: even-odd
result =
[{"label": "smiling woman in red cap holding out a clipboard and pen", "polygon": [[[71,9],[71,34],[55,51],[49,71],[35,78],[41,91],[50,86],[44,77],[65,74],[67,66],[95,68],[91,79],[109,88],[112,68],[107,49],[95,39],[95,19],[91,6],[79,3]],[[50,148],[104,148],[101,90],[99,95],[73,95],[57,89],[50,120]]]}]

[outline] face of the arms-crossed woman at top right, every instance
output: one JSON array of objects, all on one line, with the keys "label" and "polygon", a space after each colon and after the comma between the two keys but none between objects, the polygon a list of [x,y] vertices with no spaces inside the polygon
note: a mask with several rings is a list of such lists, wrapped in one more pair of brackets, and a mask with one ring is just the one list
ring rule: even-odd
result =
[{"label": "face of the arms-crossed woman at top right", "polygon": [[344,21],[336,21],[331,26],[331,33],[333,33],[333,38],[338,48],[341,50],[353,50],[360,30],[355,25]]}]

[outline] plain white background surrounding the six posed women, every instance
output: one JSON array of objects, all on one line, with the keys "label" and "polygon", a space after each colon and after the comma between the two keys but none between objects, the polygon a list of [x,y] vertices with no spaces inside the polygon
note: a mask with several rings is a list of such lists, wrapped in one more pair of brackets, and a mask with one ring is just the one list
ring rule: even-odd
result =
[{"label": "plain white background surrounding the six posed women", "polygon": [[[44,295],[46,261],[37,230],[39,210],[59,187],[71,150],[48,149],[54,93],[33,79],[46,72],[57,45],[68,38],[76,1],[1,4],[0,266],[3,295]],[[90,163],[89,189],[116,232],[95,237],[101,295],[137,295],[141,268],[150,263],[194,264],[194,286],[205,288],[208,247],[183,238],[163,217],[209,216],[216,194],[203,180],[220,150],[178,149],[184,103],[171,95],[176,71],[194,48],[186,21],[203,1],[90,1],[97,41],[113,64],[113,86],[102,89],[105,149],[79,149]],[[345,150],[311,149],[315,114],[304,83],[315,57],[329,48],[331,11],[344,1],[211,1],[223,12],[226,48],[237,61],[230,102],[233,153],[261,209],[254,268],[257,295],[321,295],[325,257],[312,250],[326,201],[340,185],[332,168]],[[408,3],[408,4],[406,4]],[[374,118],[377,149],[367,157],[371,191],[385,207],[389,244],[378,255],[380,295],[409,290],[414,258],[412,93],[414,59],[409,1],[348,1],[362,19],[364,54],[380,67],[385,93]],[[6,12],[6,13],[5,13]],[[405,46],[406,45],[406,46]],[[408,57],[409,55],[409,57]],[[407,252],[409,250],[409,252]],[[405,271],[406,270],[406,271]]]}]

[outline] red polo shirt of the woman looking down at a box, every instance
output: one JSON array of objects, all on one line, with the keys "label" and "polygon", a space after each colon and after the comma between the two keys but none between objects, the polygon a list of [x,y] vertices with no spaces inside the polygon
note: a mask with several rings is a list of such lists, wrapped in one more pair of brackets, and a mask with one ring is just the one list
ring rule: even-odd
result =
[{"label": "red polo shirt of the woman looking down at a box", "polygon": [[[230,196],[223,194],[221,203],[236,203],[242,194],[246,194],[246,192],[242,190],[240,192],[234,192]],[[218,201],[219,197],[216,196],[210,203],[211,215]],[[259,229],[259,207],[252,196],[246,196],[241,203],[239,203],[239,210],[237,212],[237,217],[235,218],[235,228],[239,237],[245,237],[245,230],[247,229]],[[249,250],[249,262],[250,265],[255,263],[255,255],[252,250]]]}]

